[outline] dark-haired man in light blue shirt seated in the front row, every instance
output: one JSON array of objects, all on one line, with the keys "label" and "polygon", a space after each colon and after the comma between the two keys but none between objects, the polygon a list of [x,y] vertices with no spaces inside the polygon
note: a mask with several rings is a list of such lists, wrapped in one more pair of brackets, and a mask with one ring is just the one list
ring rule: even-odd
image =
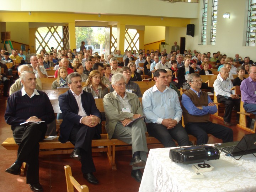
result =
[{"label": "dark-haired man in light blue shirt seated in the front row", "polygon": [[148,123],[148,133],[165,147],[175,147],[173,139],[180,146],[190,145],[186,130],[178,123],[182,110],[177,92],[167,87],[168,78],[165,69],[156,70],[156,84],[143,94],[143,113]]}]

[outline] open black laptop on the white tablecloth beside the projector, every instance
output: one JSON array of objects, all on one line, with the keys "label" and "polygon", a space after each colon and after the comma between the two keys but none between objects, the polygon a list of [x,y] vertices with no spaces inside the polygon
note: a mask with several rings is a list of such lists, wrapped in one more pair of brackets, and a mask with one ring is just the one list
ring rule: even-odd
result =
[{"label": "open black laptop on the white tablecloth beside the projector", "polygon": [[214,146],[231,156],[256,153],[256,134],[244,135],[240,142],[220,143]]}]

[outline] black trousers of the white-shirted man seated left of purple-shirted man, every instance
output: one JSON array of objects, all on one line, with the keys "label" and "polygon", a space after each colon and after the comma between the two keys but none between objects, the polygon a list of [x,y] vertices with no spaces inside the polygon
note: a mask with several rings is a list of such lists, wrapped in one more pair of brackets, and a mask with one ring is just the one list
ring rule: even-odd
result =
[{"label": "black trousers of the white-shirted man seated left of purple-shirted man", "polygon": [[[217,95],[217,101],[219,103],[224,103],[225,113],[223,119],[225,122],[230,123],[233,106],[236,107],[236,111],[240,111],[240,98],[232,99],[231,97],[226,98],[221,95]],[[236,120],[239,121],[239,114],[236,115]]]}]

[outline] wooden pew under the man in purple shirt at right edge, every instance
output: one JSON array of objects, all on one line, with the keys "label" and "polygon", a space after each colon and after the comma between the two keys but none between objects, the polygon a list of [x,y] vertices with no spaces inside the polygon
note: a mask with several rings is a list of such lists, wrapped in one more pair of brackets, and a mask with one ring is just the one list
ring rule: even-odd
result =
[{"label": "wooden pew under the man in purple shirt at right edge", "polygon": [[[235,94],[241,95],[240,86],[234,86],[233,88],[235,90]],[[256,131],[256,122],[254,123],[254,128],[251,129],[251,128],[249,128],[250,125],[248,124],[247,119],[246,119],[247,116],[254,119],[255,114],[247,113],[245,111],[244,102],[242,102],[242,96],[241,96],[241,102],[240,102],[240,112],[237,112],[237,113],[240,114],[240,117],[239,117],[239,124],[237,124],[236,126],[241,128],[241,129],[246,130],[247,132],[255,133],[255,131]]]}]

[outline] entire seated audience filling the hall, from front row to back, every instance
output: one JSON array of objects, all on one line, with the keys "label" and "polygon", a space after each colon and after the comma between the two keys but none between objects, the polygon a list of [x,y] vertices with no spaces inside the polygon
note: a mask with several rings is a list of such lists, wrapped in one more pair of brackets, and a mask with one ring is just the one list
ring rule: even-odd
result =
[{"label": "entire seated audience filling the hall, from front row to back", "polygon": [[[11,125],[15,142],[19,145],[18,155],[6,172],[19,175],[22,163],[26,162],[29,165],[27,183],[33,191],[43,191],[39,183],[38,142],[48,134],[47,127],[54,120],[54,111],[42,91],[40,78],[48,76],[46,69],[50,67],[56,70],[54,77],[57,78],[52,89],[69,88],[59,96],[63,118],[59,141],[70,141],[74,145],[70,157],[81,162],[83,176],[92,184],[97,184],[98,180],[93,175],[96,169],[91,141],[101,138],[102,119],[106,119],[109,139],[116,138],[132,145],[129,165],[132,166],[131,176],[138,182],[142,180],[140,169],[145,167],[147,159],[147,131],[164,147],[175,147],[175,141],[180,146],[191,145],[188,134],[197,138],[197,145],[207,144],[208,134],[223,142],[233,141],[232,129],[210,121],[210,114],[216,113],[217,107],[207,92],[201,90],[206,85],[200,75],[211,75],[213,66],[218,66],[219,74],[213,87],[218,102],[225,105],[224,124],[231,126],[231,111],[233,108],[240,110],[240,98],[231,90],[235,85],[241,87],[245,110],[256,114],[255,63],[249,57],[242,60],[238,54],[235,59],[220,52],[210,57],[210,52],[201,54],[193,50],[191,54],[188,49],[183,55],[177,48],[176,43],[170,54],[166,49],[162,52],[140,49],[139,53],[126,50],[123,55],[117,50],[105,60],[104,55],[86,50],[82,42],[80,52],[76,49],[57,52],[52,48],[46,53],[42,49],[40,54],[30,57],[30,64],[20,62],[25,56],[22,52],[17,56],[14,49],[9,57],[8,52],[1,50],[4,71],[1,71],[0,82],[4,84],[5,96],[8,96],[11,80],[7,77],[15,70],[19,77],[10,87],[5,113],[6,123]],[[123,63],[118,58],[123,58]],[[216,63],[211,65],[209,61]],[[13,62],[12,71],[6,68],[8,62]],[[238,74],[238,77],[232,82],[233,74]],[[249,74],[249,78],[245,78],[245,74]],[[136,83],[142,81],[143,75],[155,81],[155,85],[144,94]],[[184,84],[190,89],[181,95],[178,89]],[[142,103],[138,97],[142,97]],[[97,98],[103,98],[105,113],[97,109]],[[141,116],[145,116],[145,122],[139,118]],[[130,123],[135,118],[139,119]],[[181,124],[182,118],[185,127]],[[28,121],[43,122],[20,125]]]}]

